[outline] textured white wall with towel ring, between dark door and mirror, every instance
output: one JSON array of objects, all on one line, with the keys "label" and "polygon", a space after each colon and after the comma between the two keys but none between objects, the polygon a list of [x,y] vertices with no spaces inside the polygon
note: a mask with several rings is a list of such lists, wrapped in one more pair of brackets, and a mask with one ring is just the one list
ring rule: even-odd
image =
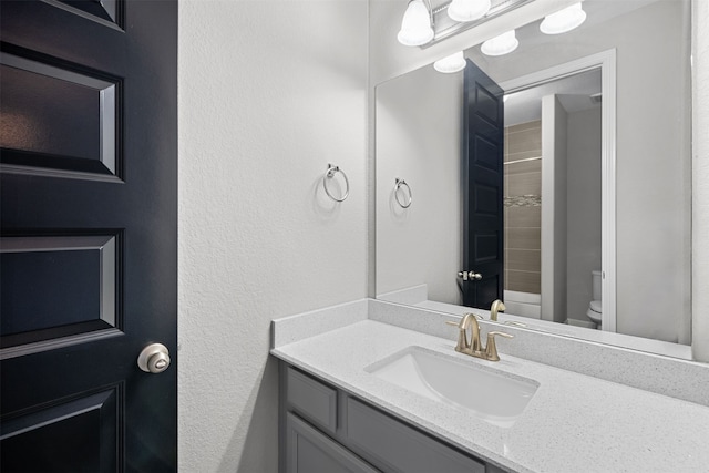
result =
[{"label": "textured white wall with towel ring, between dark door and mirror", "polygon": [[367,295],[367,29],[366,0],[179,3],[183,472],[275,472],[270,320]]}]

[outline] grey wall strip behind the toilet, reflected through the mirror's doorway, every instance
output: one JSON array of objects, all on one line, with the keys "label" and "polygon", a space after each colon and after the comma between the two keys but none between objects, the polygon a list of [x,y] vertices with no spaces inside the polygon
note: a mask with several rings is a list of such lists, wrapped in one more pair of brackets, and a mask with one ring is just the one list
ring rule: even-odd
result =
[{"label": "grey wall strip behind the toilet, reflected through the mirror's doorway", "polygon": [[588,321],[590,271],[600,269],[600,107],[568,114],[566,316]]}]

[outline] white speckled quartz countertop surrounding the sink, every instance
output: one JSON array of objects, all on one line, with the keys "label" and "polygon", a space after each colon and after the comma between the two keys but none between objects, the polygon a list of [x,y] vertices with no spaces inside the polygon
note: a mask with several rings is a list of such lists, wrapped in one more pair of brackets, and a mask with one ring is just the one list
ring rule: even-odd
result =
[{"label": "white speckled quartz countertop surrounding the sink", "polygon": [[[271,353],[483,460],[518,472],[707,472],[709,408],[505,354],[479,360],[452,340],[361,320]],[[366,371],[409,347],[534,380],[510,428],[391,384]],[[541,348],[543,349],[543,348]],[[648,373],[653,376],[653,373]]]}]

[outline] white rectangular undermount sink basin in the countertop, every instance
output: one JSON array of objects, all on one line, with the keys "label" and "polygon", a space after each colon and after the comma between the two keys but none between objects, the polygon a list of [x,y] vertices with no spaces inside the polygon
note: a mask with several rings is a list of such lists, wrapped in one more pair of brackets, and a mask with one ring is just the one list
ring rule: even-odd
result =
[{"label": "white rectangular undermount sink basin in the countertop", "polygon": [[366,371],[505,428],[514,424],[540,387],[536,381],[482,367],[473,359],[466,362],[422,347],[409,347]]}]

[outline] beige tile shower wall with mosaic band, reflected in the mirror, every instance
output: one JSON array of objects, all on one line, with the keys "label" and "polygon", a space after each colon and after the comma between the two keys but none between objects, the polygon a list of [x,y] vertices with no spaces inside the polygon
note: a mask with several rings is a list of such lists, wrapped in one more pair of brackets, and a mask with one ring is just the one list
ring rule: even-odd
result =
[{"label": "beige tile shower wall with mosaic band, reflected in the mirror", "polygon": [[505,289],[541,294],[542,122],[505,128]]}]

